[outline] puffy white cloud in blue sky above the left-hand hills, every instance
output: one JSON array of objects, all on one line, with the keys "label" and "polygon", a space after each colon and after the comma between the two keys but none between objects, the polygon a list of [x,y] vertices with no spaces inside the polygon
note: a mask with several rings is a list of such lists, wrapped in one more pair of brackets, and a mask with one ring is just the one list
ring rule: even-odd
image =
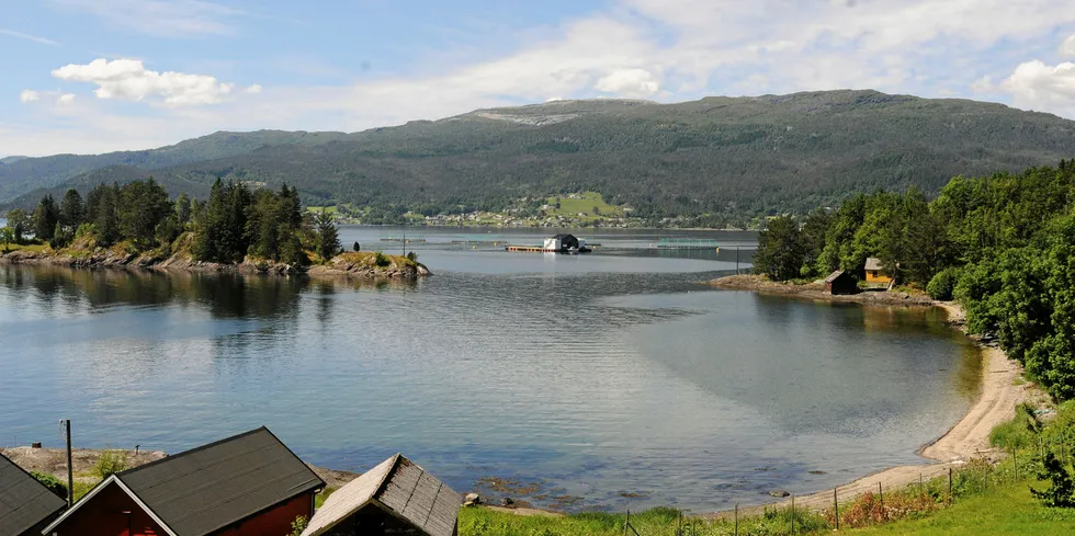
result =
[{"label": "puffy white cloud in blue sky above the left-hand hills", "polygon": [[95,83],[98,89],[93,92],[99,99],[140,101],[158,96],[165,104],[176,106],[223,102],[235,88],[208,75],[147,70],[137,59],[99,58],[86,65],[60,67],[53,70],[53,76],[65,81]]}]

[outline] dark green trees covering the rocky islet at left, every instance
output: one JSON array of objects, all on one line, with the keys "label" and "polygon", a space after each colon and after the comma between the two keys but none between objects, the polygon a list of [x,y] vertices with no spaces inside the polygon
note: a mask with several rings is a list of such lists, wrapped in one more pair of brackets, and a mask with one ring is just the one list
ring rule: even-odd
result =
[{"label": "dark green trees covering the rocky islet at left", "polygon": [[127,184],[98,184],[82,198],[68,190],[57,203],[52,194],[33,212],[12,209],[3,241],[47,242],[60,249],[122,244],[125,250],[168,256],[189,250],[197,261],[237,263],[259,260],[306,266],[341,252],[336,223],[327,213],[303,210],[298,192],[251,190],[217,180],[207,201],[181,193],[172,202],[154,178]]}]

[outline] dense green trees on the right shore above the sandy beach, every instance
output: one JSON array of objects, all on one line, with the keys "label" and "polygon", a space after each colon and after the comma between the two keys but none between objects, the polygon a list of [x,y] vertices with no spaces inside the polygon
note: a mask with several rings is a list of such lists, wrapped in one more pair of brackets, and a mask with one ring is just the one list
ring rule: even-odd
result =
[{"label": "dense green trees on the right shore above the sandy beach", "polygon": [[776,280],[861,275],[876,256],[897,283],[959,300],[969,328],[995,334],[1060,400],[1075,398],[1075,160],[858,195],[836,210],[779,217],[755,265]]}]

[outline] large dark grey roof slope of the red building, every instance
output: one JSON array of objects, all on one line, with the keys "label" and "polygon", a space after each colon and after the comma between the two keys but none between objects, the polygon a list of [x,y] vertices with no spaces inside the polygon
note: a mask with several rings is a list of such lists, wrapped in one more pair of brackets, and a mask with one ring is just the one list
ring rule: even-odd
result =
[{"label": "large dark grey roof slope of the red building", "polygon": [[179,536],[203,536],[325,482],[265,427],[117,475]]}]

